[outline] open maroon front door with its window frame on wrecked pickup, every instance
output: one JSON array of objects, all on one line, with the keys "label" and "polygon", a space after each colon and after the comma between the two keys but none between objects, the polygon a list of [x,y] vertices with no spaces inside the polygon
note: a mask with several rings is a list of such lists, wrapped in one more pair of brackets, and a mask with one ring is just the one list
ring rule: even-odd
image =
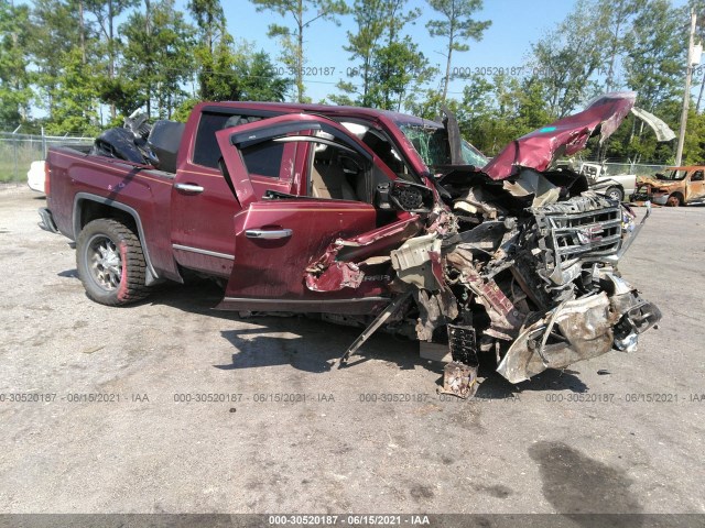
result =
[{"label": "open maroon front door with its window frame on wrecked pickup", "polygon": [[[216,134],[227,178],[242,210],[235,215],[235,264],[219,308],[270,311],[369,314],[387,298],[379,284],[313,292],[305,271],[339,238],[373,230],[375,156],[332,120],[294,114]],[[294,180],[305,193],[270,194],[261,199],[250,178],[252,153],[300,144],[308,152],[304,174]],[[303,148],[303,146],[307,148]],[[379,178],[393,178],[388,173]]]}]

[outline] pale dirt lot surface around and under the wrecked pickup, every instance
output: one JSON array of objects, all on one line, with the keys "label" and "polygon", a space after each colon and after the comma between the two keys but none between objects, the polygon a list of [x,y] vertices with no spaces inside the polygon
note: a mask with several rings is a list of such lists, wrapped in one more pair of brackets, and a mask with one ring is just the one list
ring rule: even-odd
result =
[{"label": "pale dirt lot surface around and under the wrecked pickup", "polygon": [[337,370],[355,329],[208,283],[91,302],[41,206],[0,189],[2,513],[705,513],[705,208],[654,210],[622,263],[663,311],[638,352],[460,402],[417,344]]}]

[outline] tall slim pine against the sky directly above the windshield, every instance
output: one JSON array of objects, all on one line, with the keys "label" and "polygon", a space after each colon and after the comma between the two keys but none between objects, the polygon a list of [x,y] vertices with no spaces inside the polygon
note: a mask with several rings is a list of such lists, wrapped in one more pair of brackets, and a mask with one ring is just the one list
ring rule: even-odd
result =
[{"label": "tall slim pine against the sky directly above the windshield", "polygon": [[491,21],[479,22],[473,14],[482,9],[482,0],[427,0],[429,4],[443,15],[440,20],[431,20],[426,29],[431,36],[446,40],[445,75],[443,76],[442,101],[445,102],[451,81],[451,65],[453,52],[467,52],[470,46],[467,41],[479,41],[482,32],[490,26]]}]

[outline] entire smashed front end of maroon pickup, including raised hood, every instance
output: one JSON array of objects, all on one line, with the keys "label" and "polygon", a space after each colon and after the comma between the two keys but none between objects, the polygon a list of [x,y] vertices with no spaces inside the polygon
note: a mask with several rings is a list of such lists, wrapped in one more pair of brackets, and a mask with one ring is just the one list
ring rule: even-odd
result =
[{"label": "entire smashed front end of maroon pickup, including raised hood", "polygon": [[[392,230],[395,244],[383,253],[397,301],[344,360],[383,323],[405,322],[419,340],[448,345],[444,391],[467,397],[477,388],[480,353],[518,383],[612,349],[636,350],[661,314],[617,265],[650,210],[637,223],[628,206],[589,190],[584,176],[552,169],[589,136],[606,139],[632,105],[633,95],[605,96],[513,142],[482,169],[443,168],[435,207],[417,217],[423,227],[403,238]],[[338,252],[348,245],[338,241],[316,261],[310,288],[332,288],[330,276],[340,287],[359,284],[360,261]]]}]

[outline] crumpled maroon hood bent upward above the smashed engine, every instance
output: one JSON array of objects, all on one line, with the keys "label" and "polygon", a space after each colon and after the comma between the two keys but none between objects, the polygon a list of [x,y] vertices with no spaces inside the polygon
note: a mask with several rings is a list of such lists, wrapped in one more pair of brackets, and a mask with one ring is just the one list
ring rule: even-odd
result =
[{"label": "crumpled maroon hood bent upward above the smashed engine", "polygon": [[600,133],[600,144],[609,138],[634,105],[633,91],[606,94],[585,110],[534,130],[511,142],[485,167],[491,179],[506,179],[522,167],[547,169],[560,156],[571,156],[585,148],[587,140]]}]

